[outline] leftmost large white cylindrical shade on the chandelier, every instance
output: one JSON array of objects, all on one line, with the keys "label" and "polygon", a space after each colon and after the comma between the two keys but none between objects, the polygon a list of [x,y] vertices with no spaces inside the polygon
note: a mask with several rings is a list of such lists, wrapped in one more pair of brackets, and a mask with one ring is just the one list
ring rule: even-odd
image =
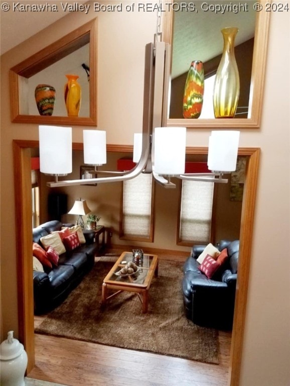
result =
[{"label": "leftmost large white cylindrical shade on the chandelier", "polygon": [[46,174],[72,172],[72,128],[39,126],[40,171]]}]

